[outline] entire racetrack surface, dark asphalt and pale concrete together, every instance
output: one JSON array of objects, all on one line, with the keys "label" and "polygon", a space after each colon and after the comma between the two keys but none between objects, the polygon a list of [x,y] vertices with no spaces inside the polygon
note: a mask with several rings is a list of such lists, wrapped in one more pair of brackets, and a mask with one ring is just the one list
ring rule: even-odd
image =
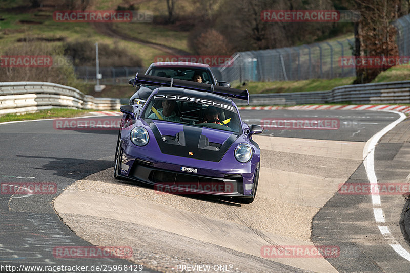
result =
[{"label": "entire racetrack surface, dark asphalt and pale concrete together", "polygon": [[[406,193],[380,195],[377,202],[373,193],[339,191],[370,184],[372,170],[379,185],[409,183],[407,120],[380,134],[373,154],[369,140],[400,119],[398,113],[241,110],[241,116],[265,126],[254,137],[262,160],[257,197],[249,205],[158,194],[115,180],[117,130],[60,130],[53,120],[0,124],[0,271],[115,265],[129,272],[124,265],[135,265],[181,272],[209,265],[209,271],[229,272],[408,272]],[[312,128],[293,120],[310,120]],[[18,193],[8,190],[16,183]],[[47,184],[48,193],[24,190],[30,183]],[[56,253],[92,245],[122,246],[132,255],[78,259]],[[324,246],[336,254],[280,256],[286,246]]]}]

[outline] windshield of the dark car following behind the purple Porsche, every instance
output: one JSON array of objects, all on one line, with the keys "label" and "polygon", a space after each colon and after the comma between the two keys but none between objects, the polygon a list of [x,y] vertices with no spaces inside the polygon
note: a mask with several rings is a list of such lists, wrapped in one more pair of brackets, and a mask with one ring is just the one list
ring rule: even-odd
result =
[{"label": "windshield of the dark car following behind the purple Porsche", "polygon": [[194,76],[199,75],[202,83],[215,84],[208,70],[186,67],[153,67],[148,75],[194,81]]}]

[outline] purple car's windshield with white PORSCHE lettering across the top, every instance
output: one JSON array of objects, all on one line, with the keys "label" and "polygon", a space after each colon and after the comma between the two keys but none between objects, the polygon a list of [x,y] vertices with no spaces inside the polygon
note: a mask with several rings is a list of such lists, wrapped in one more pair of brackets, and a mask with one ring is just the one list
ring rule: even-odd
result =
[{"label": "purple car's windshield with white PORSCHE lettering across the top", "polygon": [[154,95],[140,117],[242,133],[236,108],[209,99]]}]

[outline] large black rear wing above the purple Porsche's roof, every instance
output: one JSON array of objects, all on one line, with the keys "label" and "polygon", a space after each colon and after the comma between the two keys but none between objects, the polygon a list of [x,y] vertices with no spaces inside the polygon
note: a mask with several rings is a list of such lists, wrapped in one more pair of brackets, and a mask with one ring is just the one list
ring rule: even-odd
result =
[{"label": "large black rear wing above the purple Porsche's roof", "polygon": [[185,88],[190,90],[197,90],[203,92],[214,93],[222,96],[228,96],[231,98],[246,100],[249,104],[249,93],[248,90],[235,89],[230,87],[224,87],[219,85],[199,83],[194,81],[179,80],[174,78],[150,76],[145,74],[137,73],[135,75],[133,86],[136,83],[148,84],[148,85],[158,85],[167,87],[177,87]]}]

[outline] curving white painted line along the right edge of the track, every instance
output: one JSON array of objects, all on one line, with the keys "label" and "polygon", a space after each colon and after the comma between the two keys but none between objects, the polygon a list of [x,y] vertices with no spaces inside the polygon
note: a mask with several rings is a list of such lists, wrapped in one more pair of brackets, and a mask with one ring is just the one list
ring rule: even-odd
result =
[{"label": "curving white painted line along the right edge of the track", "polygon": [[[373,135],[373,137],[370,138],[366,142],[366,145],[363,148],[363,160],[364,160],[363,164],[364,164],[364,168],[366,169],[367,178],[370,184],[375,185],[375,187],[378,187],[377,177],[375,173],[375,165],[374,165],[375,147],[384,134],[386,134],[388,131],[393,129],[394,126],[396,126],[397,124],[399,124],[406,118],[406,115],[404,115],[404,113],[401,113],[401,112],[391,111],[391,110],[381,110],[381,111],[397,113],[398,115],[400,115],[400,117],[394,122],[392,122],[391,124],[381,129],[375,135]],[[385,219],[384,219],[383,209],[381,208],[380,195],[373,191],[372,191],[372,204],[373,204],[373,213],[375,216],[375,221],[377,223],[384,223]],[[410,261],[410,253],[406,251],[406,249],[404,249],[396,241],[396,239],[394,239],[388,227],[387,226],[378,226],[378,227],[379,227],[381,234],[389,242],[389,245],[394,249],[394,251],[397,252],[404,259]]]}]

